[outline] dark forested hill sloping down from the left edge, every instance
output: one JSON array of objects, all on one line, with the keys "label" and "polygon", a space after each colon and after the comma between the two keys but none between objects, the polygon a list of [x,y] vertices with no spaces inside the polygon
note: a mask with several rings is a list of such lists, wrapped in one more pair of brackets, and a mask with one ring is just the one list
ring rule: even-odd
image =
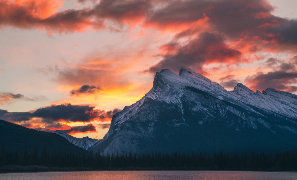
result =
[{"label": "dark forested hill sloping down from the left edge", "polygon": [[6,148],[8,151],[23,152],[26,147],[30,153],[34,151],[36,146],[39,153],[45,146],[50,152],[54,150],[56,152],[85,151],[55,133],[29,129],[4,120],[0,120],[0,137],[0,147]]}]

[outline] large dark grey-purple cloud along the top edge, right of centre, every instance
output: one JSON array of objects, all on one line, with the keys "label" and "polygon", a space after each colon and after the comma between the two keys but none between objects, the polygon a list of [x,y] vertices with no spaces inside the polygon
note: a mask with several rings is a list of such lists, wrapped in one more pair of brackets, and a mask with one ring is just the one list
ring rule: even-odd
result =
[{"label": "large dark grey-purple cloud along the top edge, right of centre", "polygon": [[266,23],[285,21],[270,16],[272,10],[273,7],[262,0],[171,1],[164,8],[154,11],[146,23],[162,28],[168,25],[178,26],[179,23],[192,23],[206,16],[216,30],[230,36],[238,36],[242,32],[256,33],[259,31],[257,28]]}]

